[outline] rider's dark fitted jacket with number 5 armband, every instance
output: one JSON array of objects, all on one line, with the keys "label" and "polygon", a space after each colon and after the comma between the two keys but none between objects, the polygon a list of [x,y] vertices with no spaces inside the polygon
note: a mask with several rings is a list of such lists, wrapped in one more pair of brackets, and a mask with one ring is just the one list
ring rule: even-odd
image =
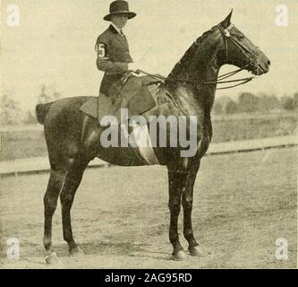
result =
[{"label": "rider's dark fitted jacket with number 5 armband", "polygon": [[128,71],[128,63],[132,63],[132,57],[127,39],[124,39],[112,25],[98,37],[96,50],[98,70],[105,72],[100,92],[108,96],[108,88]]}]

